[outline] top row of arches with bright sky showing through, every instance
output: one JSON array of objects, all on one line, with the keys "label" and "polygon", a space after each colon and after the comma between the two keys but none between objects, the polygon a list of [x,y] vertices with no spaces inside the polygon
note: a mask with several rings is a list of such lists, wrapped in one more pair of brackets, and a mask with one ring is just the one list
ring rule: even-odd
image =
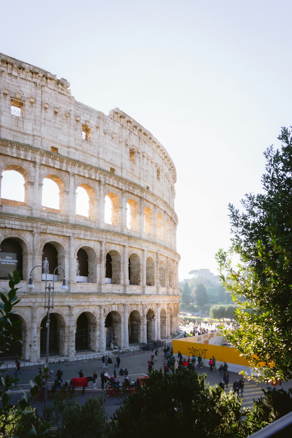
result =
[{"label": "top row of arches with bright sky showing through", "polygon": [[[29,178],[28,172],[21,166],[6,166],[2,173],[1,203],[31,206]],[[75,217],[125,227],[135,233],[157,237],[169,246],[175,245],[175,223],[165,212],[159,211],[154,205],[146,205],[140,197],[133,197],[125,191],[115,193],[113,187],[94,187],[93,184],[99,182],[90,181],[92,185],[71,184],[74,196],[70,202],[64,180],[58,175],[45,174],[39,179],[42,193],[38,196],[36,208],[63,215],[68,215],[71,208]]]}]

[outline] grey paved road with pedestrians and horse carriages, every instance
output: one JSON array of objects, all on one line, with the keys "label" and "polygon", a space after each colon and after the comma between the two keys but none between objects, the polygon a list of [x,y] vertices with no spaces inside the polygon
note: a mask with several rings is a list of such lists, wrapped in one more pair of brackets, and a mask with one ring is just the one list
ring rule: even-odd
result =
[{"label": "grey paved road with pedestrians and horse carriages", "polygon": [[[155,368],[159,369],[160,367],[163,367],[163,363],[164,363],[164,354],[161,350],[159,350],[159,356],[158,356],[158,360],[155,360]],[[137,377],[139,376],[143,376],[146,375],[148,373],[148,366],[147,366],[147,362],[150,359],[150,352],[144,352],[144,353],[137,353],[134,355],[127,355],[127,356],[122,356],[121,357],[121,363],[120,363],[120,367],[125,368],[127,367],[128,371],[129,371],[129,377],[134,378],[135,380],[137,379]],[[113,362],[114,362],[114,357],[113,357]],[[53,371],[52,374],[52,379],[51,381],[49,380],[49,385],[53,384],[53,379],[54,376],[56,374],[57,371],[57,367],[59,366],[59,364],[50,364],[50,370]],[[67,380],[68,383],[70,382],[70,379],[73,377],[78,377],[78,371],[80,371],[80,369],[82,368],[83,372],[84,372],[84,376],[91,376],[93,374],[94,371],[97,372],[98,376],[100,376],[100,373],[102,372],[102,370],[104,370],[104,368],[102,367],[102,361],[101,360],[82,360],[79,361],[78,363],[70,363],[69,365],[67,365],[66,362],[61,363],[60,364],[60,368],[63,371],[63,380]],[[198,374],[202,374],[205,373],[207,375],[207,382],[210,385],[215,385],[218,384],[220,382],[220,377],[219,377],[219,371],[210,371],[210,368],[208,366],[204,366],[203,368],[200,368],[197,370]],[[108,369],[108,373],[111,374],[111,370]],[[4,375],[4,373],[2,373]],[[26,370],[21,370],[21,375],[18,375],[18,377],[20,378],[20,380],[18,381],[18,386],[17,388],[13,389],[11,392],[11,396],[12,396],[12,401],[17,401],[18,398],[20,398],[22,396],[22,392],[21,389],[23,390],[29,390],[30,386],[29,386],[29,381],[33,380],[34,376],[38,374],[38,367],[35,368],[28,368]],[[233,391],[232,389],[232,384],[233,381],[235,381],[235,379],[239,379],[241,376],[239,376],[239,374],[236,373],[229,373],[229,388],[225,389],[225,391]],[[123,378],[121,378],[123,379]],[[292,381],[286,382],[285,384],[282,385],[282,387],[284,389],[288,389],[292,387]],[[101,389],[101,379],[99,378],[97,381],[97,390],[93,389],[93,385],[91,382],[88,383],[88,389],[85,390],[85,394],[87,394],[88,396],[95,396],[95,394],[101,394],[102,389]],[[261,390],[261,388],[266,389],[267,386],[262,384],[262,385],[257,385],[255,384],[253,381],[245,381],[245,389],[244,389],[244,393],[243,393],[243,402],[242,402],[242,406],[243,407],[251,407],[253,404],[253,399],[258,399],[260,396],[263,395],[263,392]],[[278,387],[279,388],[279,387]],[[278,389],[277,388],[277,389]],[[106,391],[103,391],[104,393],[106,393]],[[75,397],[79,399],[79,402],[82,403],[82,401],[85,399],[85,396],[82,395],[81,390],[76,390],[76,395]],[[111,398],[108,397],[105,394],[105,409],[106,409],[106,413],[108,415],[108,418],[110,418],[114,411],[116,410],[117,407],[120,406],[120,404],[123,403],[123,396],[119,396],[117,398]],[[53,396],[49,395],[49,400],[48,403],[52,403],[53,401]],[[43,402],[36,402],[36,405],[38,407],[38,409],[40,409],[43,406]]]}]

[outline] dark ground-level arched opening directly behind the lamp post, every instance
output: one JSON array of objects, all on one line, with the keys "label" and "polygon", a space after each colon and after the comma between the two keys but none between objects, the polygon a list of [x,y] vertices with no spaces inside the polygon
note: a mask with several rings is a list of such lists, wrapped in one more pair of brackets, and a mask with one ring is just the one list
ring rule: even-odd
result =
[{"label": "dark ground-level arched opening directly behind the lamp post", "polygon": [[[61,315],[50,313],[49,315],[49,354],[64,354],[65,323]],[[40,354],[46,354],[47,317],[42,319],[40,334]]]}]

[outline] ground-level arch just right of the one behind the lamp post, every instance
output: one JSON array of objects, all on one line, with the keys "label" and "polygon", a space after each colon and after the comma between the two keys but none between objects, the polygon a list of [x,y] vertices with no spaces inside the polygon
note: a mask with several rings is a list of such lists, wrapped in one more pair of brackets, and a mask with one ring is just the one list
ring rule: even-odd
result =
[{"label": "ground-level arch just right of the one behind the lamp post", "polygon": [[93,350],[96,345],[96,318],[88,311],[76,315],[75,350]]}]

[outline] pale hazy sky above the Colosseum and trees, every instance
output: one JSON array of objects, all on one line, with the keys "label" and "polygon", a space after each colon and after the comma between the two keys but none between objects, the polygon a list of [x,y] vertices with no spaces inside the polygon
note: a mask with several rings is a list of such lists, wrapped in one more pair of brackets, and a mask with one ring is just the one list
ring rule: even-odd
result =
[{"label": "pale hazy sky above the Colosseum and trees", "polygon": [[263,151],[291,124],[288,0],[2,0],[0,52],[66,78],[74,97],[119,107],[177,171],[179,278],[216,273],[227,205],[260,191]]}]

